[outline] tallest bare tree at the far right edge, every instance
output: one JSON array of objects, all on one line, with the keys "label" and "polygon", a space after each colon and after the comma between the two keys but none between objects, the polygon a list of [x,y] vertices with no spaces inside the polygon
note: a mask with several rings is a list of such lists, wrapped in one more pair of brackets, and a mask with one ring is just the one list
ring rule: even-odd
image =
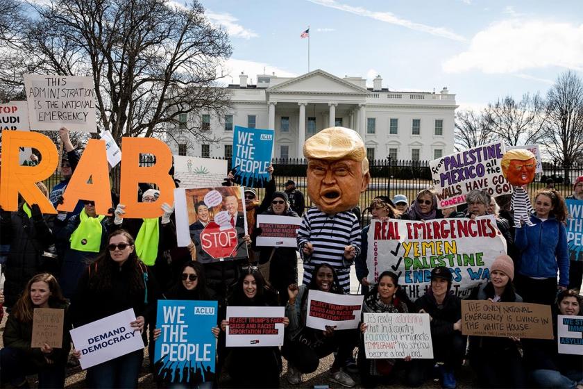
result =
[{"label": "tallest bare tree at the far right edge", "polygon": [[568,169],[583,160],[583,81],[572,72],[561,73],[547,93],[545,129],[547,152]]}]

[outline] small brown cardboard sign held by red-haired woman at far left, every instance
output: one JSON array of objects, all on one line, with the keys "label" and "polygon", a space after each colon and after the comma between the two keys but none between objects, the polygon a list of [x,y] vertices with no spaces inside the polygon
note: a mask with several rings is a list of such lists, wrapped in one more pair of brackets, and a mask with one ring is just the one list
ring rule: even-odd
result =
[{"label": "small brown cardboard sign held by red-haired woman at far left", "polygon": [[62,329],[64,324],[64,309],[35,308],[33,311],[31,347],[42,347],[47,343],[47,345],[56,349],[62,348]]}]

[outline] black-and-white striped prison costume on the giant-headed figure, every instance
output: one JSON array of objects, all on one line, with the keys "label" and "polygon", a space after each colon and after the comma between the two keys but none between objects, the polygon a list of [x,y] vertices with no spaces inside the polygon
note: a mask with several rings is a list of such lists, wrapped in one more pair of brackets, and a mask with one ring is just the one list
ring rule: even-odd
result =
[{"label": "black-and-white striped prison costume on the giant-headed figure", "polygon": [[[306,256],[302,252],[303,245],[307,242],[312,243],[314,247],[311,256]],[[360,225],[353,213],[340,212],[332,216],[326,215],[316,207],[307,210],[298,230],[298,249],[304,266],[304,285],[310,283],[316,265],[328,263],[337,272],[344,292],[349,293],[350,266],[354,259],[344,259],[344,247],[348,245],[353,245],[356,256],[360,254]]]}]

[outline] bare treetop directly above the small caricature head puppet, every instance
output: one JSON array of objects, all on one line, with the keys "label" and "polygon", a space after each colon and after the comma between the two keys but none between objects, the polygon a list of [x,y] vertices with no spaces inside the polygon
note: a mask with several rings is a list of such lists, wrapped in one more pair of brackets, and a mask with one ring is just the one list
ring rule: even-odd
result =
[{"label": "bare treetop directly above the small caricature head puppet", "polygon": [[544,101],[538,93],[525,93],[521,101],[506,96],[488,104],[485,113],[491,131],[510,146],[536,143],[543,136],[546,117]]}]

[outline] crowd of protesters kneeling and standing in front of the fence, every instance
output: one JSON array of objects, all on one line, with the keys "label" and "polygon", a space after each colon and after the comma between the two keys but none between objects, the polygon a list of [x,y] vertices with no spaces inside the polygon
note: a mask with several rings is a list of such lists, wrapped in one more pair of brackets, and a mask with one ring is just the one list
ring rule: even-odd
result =
[{"label": "crowd of protesters kneeling and standing in front of the fence", "polygon": [[[63,181],[51,192],[37,183],[55,205],[62,203],[81,155],[71,144],[66,129],[60,131],[60,138],[65,145],[61,160]],[[282,358],[287,361],[287,381],[301,385],[303,374],[316,371],[322,358],[333,355],[330,381],[346,387],[356,385],[356,376],[366,387],[392,382],[394,376],[402,376],[407,386],[416,387],[437,374],[443,388],[455,388],[456,374],[468,361],[475,370],[477,384],[486,388],[583,388],[583,357],[558,354],[556,340],[468,339],[462,335],[461,300],[451,291],[453,274],[448,267],[432,269],[428,292],[416,301],[409,300],[393,272],[382,272],[378,282],[371,283],[366,265],[370,226],[356,227],[359,217],[352,211],[339,215],[338,224],[322,226],[329,229],[330,236],[350,244],[351,249],[340,251],[334,260],[314,251],[319,242],[305,229],[298,232],[297,250],[258,247],[256,240],[262,231],[255,227],[257,215],[303,216],[312,222],[326,218],[317,208],[305,209],[303,193],[294,181],[287,181],[285,188],[278,191],[273,167],[269,173],[271,181],[264,199],[258,199],[253,188],[244,189],[248,224],[244,240],[249,253],[246,260],[201,264],[196,261],[200,247],[177,247],[174,204],[162,204],[162,216],[151,219],[123,217],[125,206],[119,204],[115,193],[111,194],[114,208],[109,215],[97,214],[91,200],[81,200],[73,212],[58,215],[43,214],[37,204],[26,202],[15,212],[1,210],[0,254],[5,259],[2,269],[6,281],[0,304],[8,313],[4,347],[0,350],[2,383],[25,388],[26,376],[37,374],[39,388],[62,388],[69,354],[81,357],[78,350],[71,348],[71,326],[128,308],[133,308],[136,315],[130,325],[140,331],[153,359],[153,345],[160,336],[155,322],[158,300],[214,299],[219,302],[217,325],[200,329],[211,331],[219,344],[216,374],[205,379],[212,383],[210,386],[220,387],[230,377],[229,386],[276,388],[280,385]],[[226,182],[231,185],[229,179]],[[140,201],[151,202],[160,197],[153,188],[136,190]],[[583,201],[583,176],[575,181],[570,198]],[[493,261],[489,281],[475,288],[469,299],[547,304],[552,306],[555,324],[558,314],[581,315],[578,289],[582,262],[568,256],[568,215],[563,197],[554,188],[537,191],[533,197],[533,226],[521,228],[514,228],[512,212],[503,201],[503,197],[493,199],[488,192],[475,190],[466,196],[465,206],[439,210],[434,193],[425,189],[410,204],[404,195],[394,199],[375,197],[369,210],[373,220],[428,221],[494,215],[507,253]],[[194,208],[197,221],[190,226],[190,233],[196,240],[196,234],[200,235],[209,222],[209,210],[202,202]],[[238,226],[239,216],[233,217],[233,225]],[[344,224],[346,236],[342,235]],[[303,285],[298,284],[298,256],[304,261]],[[348,293],[352,265],[364,295],[364,313],[430,315],[433,359],[367,359],[362,336],[368,328],[366,322],[353,330],[330,326],[319,331],[307,327],[310,291]],[[285,306],[285,341],[281,349],[226,347],[227,306]],[[63,347],[33,348],[33,311],[49,307],[66,311]],[[139,350],[90,367],[86,385],[135,388],[143,359],[144,351]],[[153,362],[151,368],[155,370]],[[168,385],[163,377],[157,377],[156,382],[160,387]]]}]

